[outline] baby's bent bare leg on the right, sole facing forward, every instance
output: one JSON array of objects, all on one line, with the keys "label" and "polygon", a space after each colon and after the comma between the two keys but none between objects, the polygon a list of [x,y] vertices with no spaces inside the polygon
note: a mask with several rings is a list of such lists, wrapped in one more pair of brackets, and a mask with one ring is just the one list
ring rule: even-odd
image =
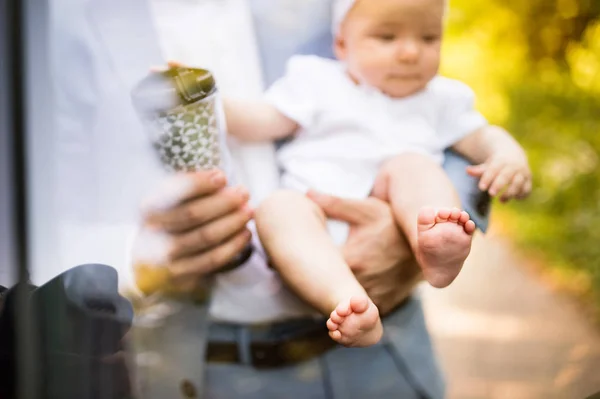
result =
[{"label": "baby's bent bare leg on the right, sole facing forward", "polygon": [[423,155],[404,154],[382,169],[373,194],[392,204],[425,279],[448,286],[471,251],[475,223],[444,170]]}]

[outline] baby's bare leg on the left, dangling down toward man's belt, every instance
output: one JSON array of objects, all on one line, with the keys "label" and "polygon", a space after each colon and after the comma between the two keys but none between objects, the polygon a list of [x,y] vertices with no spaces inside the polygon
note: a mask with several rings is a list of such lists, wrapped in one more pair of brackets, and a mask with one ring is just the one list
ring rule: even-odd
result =
[{"label": "baby's bare leg on the left, dangling down toward man's belt", "polygon": [[344,261],[322,210],[294,191],[279,191],[256,211],[256,227],[274,267],[302,299],[323,314],[330,335],[348,346],[373,345],[383,328],[377,307]]}]

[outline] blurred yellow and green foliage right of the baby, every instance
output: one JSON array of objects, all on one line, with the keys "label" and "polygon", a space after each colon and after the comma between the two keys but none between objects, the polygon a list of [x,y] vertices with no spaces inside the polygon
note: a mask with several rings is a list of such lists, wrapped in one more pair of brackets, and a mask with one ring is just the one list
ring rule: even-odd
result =
[{"label": "blurred yellow and green foliage right of the baby", "polygon": [[[586,276],[600,309],[600,0],[451,0],[443,73],[526,148],[515,240]],[[497,205],[499,206],[499,205]]]}]

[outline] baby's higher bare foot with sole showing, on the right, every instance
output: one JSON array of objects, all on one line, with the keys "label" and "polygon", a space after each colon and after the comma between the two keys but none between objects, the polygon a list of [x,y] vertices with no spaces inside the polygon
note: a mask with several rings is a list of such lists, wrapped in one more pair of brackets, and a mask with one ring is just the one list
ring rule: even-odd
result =
[{"label": "baby's higher bare foot with sole showing, on the right", "polygon": [[471,251],[475,223],[459,209],[423,208],[417,219],[418,248],[415,256],[425,279],[444,288],[458,276]]}]

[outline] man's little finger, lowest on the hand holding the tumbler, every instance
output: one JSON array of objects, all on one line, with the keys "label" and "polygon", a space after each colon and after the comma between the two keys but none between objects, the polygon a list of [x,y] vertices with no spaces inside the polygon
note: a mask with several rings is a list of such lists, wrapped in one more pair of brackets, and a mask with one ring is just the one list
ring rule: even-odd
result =
[{"label": "man's little finger, lowest on the hand holding the tumbler", "polygon": [[171,263],[169,268],[171,274],[174,278],[180,279],[206,275],[219,270],[242,252],[251,237],[250,231],[244,229],[216,248]]}]

